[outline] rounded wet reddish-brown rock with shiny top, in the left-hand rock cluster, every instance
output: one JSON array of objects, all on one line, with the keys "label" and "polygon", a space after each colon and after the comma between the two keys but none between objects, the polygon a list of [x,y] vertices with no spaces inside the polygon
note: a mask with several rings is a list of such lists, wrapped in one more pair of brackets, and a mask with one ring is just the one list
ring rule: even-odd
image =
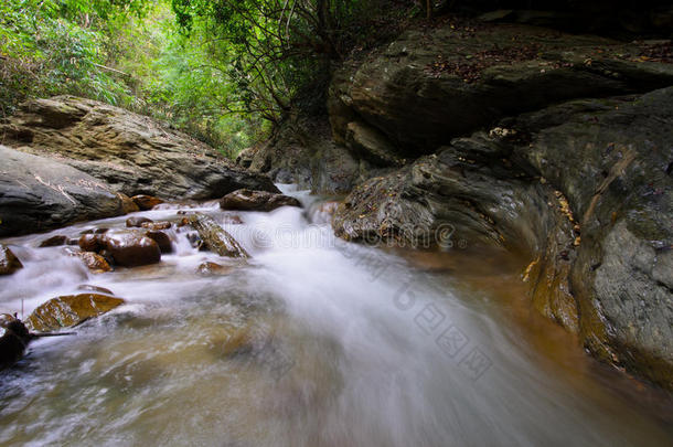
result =
[{"label": "rounded wet reddish-brown rock with shiny top, in the left-hand rock cluster", "polygon": [[115,259],[115,264],[119,266],[137,267],[161,260],[159,245],[141,233],[110,233],[105,235],[103,242]]}]

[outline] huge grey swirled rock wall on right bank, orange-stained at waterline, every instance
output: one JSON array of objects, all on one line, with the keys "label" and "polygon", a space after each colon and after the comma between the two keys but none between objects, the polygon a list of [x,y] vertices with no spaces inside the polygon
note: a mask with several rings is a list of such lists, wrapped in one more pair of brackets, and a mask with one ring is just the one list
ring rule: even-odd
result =
[{"label": "huge grey swirled rock wall on right bank, orange-stained at waterline", "polygon": [[672,141],[673,87],[552,106],[371,179],[334,228],[524,251],[535,308],[673,389]]}]

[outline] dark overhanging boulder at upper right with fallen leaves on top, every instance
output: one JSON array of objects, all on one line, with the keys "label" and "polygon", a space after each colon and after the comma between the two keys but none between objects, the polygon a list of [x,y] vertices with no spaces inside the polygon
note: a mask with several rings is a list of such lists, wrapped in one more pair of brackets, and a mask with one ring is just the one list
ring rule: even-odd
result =
[{"label": "dark overhanging boulder at upper right with fallen leaves on top", "polygon": [[374,147],[393,159],[431,153],[505,116],[673,84],[673,66],[648,56],[651,46],[514,24],[412,29],[335,74],[332,131],[351,145],[357,131],[377,136]]}]

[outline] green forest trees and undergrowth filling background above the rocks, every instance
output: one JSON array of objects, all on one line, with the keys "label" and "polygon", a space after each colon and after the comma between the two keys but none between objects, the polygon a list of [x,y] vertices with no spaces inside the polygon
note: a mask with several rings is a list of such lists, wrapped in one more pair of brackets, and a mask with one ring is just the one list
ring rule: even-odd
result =
[{"label": "green forest trees and undergrowth filling background above the rocks", "polygon": [[234,156],[298,109],[320,113],[333,63],[394,33],[414,8],[405,0],[4,1],[0,114],[28,98],[73,94],[165,119]]}]

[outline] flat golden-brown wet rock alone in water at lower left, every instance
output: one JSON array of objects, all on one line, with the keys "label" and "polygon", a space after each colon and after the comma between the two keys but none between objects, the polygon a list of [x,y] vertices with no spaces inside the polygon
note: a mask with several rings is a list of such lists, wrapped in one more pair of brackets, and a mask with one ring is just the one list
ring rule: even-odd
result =
[{"label": "flat golden-brown wet rock alone in water at lower left", "polygon": [[125,302],[121,298],[98,294],[67,295],[39,306],[25,320],[25,324],[39,332],[72,328]]}]

